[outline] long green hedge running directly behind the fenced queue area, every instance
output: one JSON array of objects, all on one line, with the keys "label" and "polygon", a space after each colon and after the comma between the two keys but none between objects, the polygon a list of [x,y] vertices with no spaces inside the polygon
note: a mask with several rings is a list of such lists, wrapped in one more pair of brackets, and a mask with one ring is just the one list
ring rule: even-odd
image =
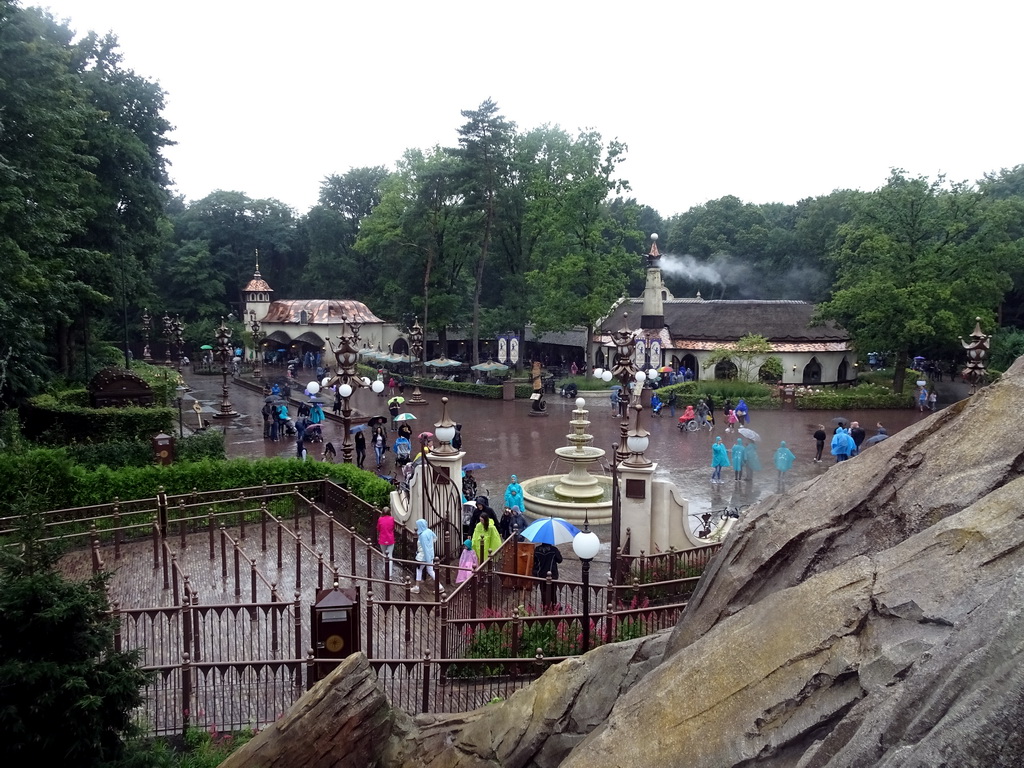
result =
[{"label": "long green hedge running directly behind the fenced queue area", "polygon": [[89,468],[74,464],[63,449],[36,449],[0,454],[2,514],[22,514],[69,507],[106,504],[119,499],[148,499],[163,485],[168,494],[223,490],[262,483],[302,482],[329,477],[360,499],[383,506],[391,484],[351,464],[327,464],[298,459],[231,459],[180,462],[170,466]]}]

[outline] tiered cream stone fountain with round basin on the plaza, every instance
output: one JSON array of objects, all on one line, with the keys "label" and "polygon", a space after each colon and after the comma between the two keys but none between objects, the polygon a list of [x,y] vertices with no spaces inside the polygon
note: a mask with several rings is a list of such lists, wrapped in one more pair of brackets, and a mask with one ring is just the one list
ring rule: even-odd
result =
[{"label": "tiered cream stone fountain with round basin on the plaza", "polygon": [[592,524],[611,521],[611,480],[591,474],[591,464],[604,458],[604,451],[590,443],[594,436],[587,434],[590,412],[583,397],[577,398],[575,410],[566,435],[568,445],[555,449],[555,455],[569,465],[564,475],[531,477],[522,483],[523,500],[527,512],[534,517],[561,517],[569,522],[582,523],[586,518]]}]

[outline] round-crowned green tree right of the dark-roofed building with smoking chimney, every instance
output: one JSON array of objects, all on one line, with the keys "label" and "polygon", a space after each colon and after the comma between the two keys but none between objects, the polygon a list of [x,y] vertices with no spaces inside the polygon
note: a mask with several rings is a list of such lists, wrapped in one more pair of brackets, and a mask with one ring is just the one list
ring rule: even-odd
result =
[{"label": "round-crowned green tree right of the dark-roofed building with smoking chimney", "polygon": [[1006,242],[969,185],[893,170],[841,227],[829,254],[838,280],[819,316],[847,328],[860,349],[891,351],[893,391],[902,392],[914,351],[963,335],[975,315],[992,325],[1011,288]]}]

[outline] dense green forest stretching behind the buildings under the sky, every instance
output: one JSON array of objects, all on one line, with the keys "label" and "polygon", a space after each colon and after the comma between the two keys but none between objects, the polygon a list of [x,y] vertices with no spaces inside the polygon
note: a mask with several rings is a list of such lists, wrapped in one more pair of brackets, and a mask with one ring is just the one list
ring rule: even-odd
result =
[{"label": "dense green forest stretching behind the buildings under the sky", "polygon": [[999,329],[1002,364],[1024,351],[1024,166],[973,183],[894,169],[874,191],[725,197],[664,218],[631,196],[625,143],[523,130],[488,99],[462,113],[455,146],[407,150],[393,169],[325,169],[299,213],[242,191],[171,196],[164,95],[116,39],[75,39],[0,0],[5,402],[124,359],[144,308],[209,341],[257,252],[279,298],[354,298],[485,339],[596,323],[640,291],[658,232],[677,296],[817,302],[897,360],[952,355],[976,315]]}]

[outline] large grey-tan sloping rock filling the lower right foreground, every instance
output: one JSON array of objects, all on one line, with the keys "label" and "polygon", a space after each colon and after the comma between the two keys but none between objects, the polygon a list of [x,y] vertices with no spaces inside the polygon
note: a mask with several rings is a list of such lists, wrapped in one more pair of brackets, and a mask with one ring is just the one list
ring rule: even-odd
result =
[{"label": "large grey-tan sloping rock filling the lower right foreground", "polygon": [[564,662],[467,715],[393,714],[374,756],[410,768],[1024,764],[1019,413],[1021,361],[752,509],[670,636]]}]

